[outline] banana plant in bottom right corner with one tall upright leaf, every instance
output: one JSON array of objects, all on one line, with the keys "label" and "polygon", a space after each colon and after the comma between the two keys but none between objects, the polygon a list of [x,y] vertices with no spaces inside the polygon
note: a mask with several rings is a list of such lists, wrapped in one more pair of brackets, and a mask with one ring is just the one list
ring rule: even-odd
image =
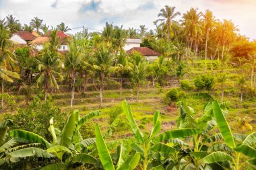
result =
[{"label": "banana plant in bottom right corner with one tall upright leaf", "polygon": [[248,159],[245,163],[255,166],[256,132],[249,134],[245,139],[243,139],[243,142],[238,142],[236,140],[238,135],[232,134],[230,126],[228,125],[228,122],[225,118],[225,114],[224,112],[222,112],[221,106],[218,101],[213,101],[212,109],[214,113],[214,118],[216,119],[218,129],[220,130],[220,134],[222,135],[224,143],[230,148],[232,152],[230,154],[221,151],[214,152],[210,155],[207,155],[206,157],[203,157],[201,159],[201,162],[205,164],[211,164],[220,162],[223,163],[224,161],[228,161],[230,162],[231,169],[238,170],[241,169],[244,165],[244,163],[242,163],[241,165],[239,164],[241,161],[240,158],[242,153],[243,155],[251,158]]}]

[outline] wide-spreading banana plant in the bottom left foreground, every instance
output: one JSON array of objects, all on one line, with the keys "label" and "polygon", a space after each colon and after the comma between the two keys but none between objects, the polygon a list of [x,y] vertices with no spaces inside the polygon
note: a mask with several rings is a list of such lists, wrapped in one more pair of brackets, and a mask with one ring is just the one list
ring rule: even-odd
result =
[{"label": "wide-spreading banana plant in the bottom left foreground", "polygon": [[97,160],[91,155],[83,153],[86,147],[95,143],[95,138],[83,139],[79,128],[83,126],[86,120],[99,115],[99,111],[94,111],[80,118],[78,110],[74,110],[61,131],[54,127],[53,118],[51,118],[49,131],[53,136],[53,142],[48,142],[42,136],[26,130],[11,130],[10,136],[13,138],[23,142],[39,143],[43,149],[37,147],[22,148],[8,155],[13,158],[55,157],[59,160],[57,163],[46,165],[42,169],[69,169],[71,166],[95,165]]}]

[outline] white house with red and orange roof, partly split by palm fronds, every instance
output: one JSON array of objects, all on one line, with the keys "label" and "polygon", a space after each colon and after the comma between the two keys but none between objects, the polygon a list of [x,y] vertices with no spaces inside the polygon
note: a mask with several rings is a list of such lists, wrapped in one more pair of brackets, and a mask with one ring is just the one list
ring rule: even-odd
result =
[{"label": "white house with red and orange roof, partly split by palm fronds", "polygon": [[[67,44],[66,40],[70,37],[61,31],[57,31],[57,37],[61,39],[61,45],[58,50],[63,52],[69,50],[69,45]],[[44,42],[48,42],[49,40],[51,40],[51,31],[47,32],[43,36],[37,37],[32,42],[30,42],[30,44],[35,46],[36,50],[42,50]]]}]

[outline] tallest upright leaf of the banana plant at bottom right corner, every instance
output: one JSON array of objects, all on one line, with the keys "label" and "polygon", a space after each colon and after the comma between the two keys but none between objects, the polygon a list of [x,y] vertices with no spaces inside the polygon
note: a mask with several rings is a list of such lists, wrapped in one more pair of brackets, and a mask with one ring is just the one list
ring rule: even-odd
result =
[{"label": "tallest upright leaf of the banana plant at bottom right corner", "polygon": [[218,124],[218,128],[220,129],[220,133],[224,138],[224,141],[228,146],[230,146],[230,148],[234,148],[236,146],[236,144],[234,143],[234,137],[231,133],[230,127],[228,126],[228,122],[226,121],[226,118],[220,108],[220,104],[218,103],[218,101],[214,101],[212,103],[212,108],[214,111],[214,117]]}]

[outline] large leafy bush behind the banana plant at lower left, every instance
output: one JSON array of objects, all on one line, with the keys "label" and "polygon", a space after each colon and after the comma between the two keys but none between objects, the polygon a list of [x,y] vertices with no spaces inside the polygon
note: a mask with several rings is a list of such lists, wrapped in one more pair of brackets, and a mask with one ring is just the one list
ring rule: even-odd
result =
[{"label": "large leafy bush behind the banana plant at lower left", "polygon": [[67,121],[66,114],[61,113],[59,108],[53,107],[50,101],[44,103],[39,97],[34,97],[27,108],[20,108],[14,115],[6,115],[5,119],[13,120],[14,128],[34,132],[51,141],[53,138],[48,128],[49,120],[53,117],[55,128],[62,129]]}]

